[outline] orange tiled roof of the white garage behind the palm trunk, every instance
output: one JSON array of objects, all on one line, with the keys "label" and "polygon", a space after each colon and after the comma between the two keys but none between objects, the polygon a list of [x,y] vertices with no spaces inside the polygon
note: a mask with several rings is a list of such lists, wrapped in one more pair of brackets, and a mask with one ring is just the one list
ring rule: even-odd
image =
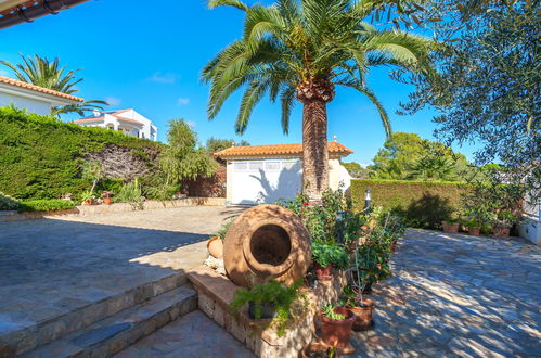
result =
[{"label": "orange tiled roof of the white garage behind the palm trunk", "polygon": [[[352,150],[342,145],[338,142],[329,142],[327,149],[330,154],[342,154],[344,156],[353,153]],[[302,144],[271,144],[271,145],[243,145],[231,146],[223,151],[216,152],[215,156],[227,159],[232,157],[254,157],[266,155],[287,155],[287,156],[301,156]]]}]

